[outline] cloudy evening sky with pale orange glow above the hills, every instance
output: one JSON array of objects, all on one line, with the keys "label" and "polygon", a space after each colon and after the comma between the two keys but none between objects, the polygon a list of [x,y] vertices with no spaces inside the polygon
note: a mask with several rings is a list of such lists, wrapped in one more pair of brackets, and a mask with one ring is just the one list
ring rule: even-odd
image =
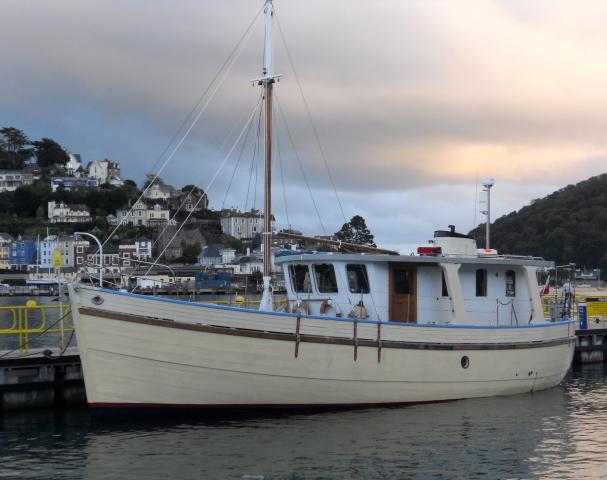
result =
[{"label": "cloudy evening sky with pale orange glow above the hills", "polygon": [[[261,17],[220,67],[262,3],[3,0],[0,126],[116,160],[141,184],[211,85],[161,176],[208,188],[212,208],[260,207]],[[278,228],[329,234],[360,214],[408,253],[482,221],[484,177],[498,218],[607,170],[606,2],[274,3],[288,47],[275,24]]]}]

